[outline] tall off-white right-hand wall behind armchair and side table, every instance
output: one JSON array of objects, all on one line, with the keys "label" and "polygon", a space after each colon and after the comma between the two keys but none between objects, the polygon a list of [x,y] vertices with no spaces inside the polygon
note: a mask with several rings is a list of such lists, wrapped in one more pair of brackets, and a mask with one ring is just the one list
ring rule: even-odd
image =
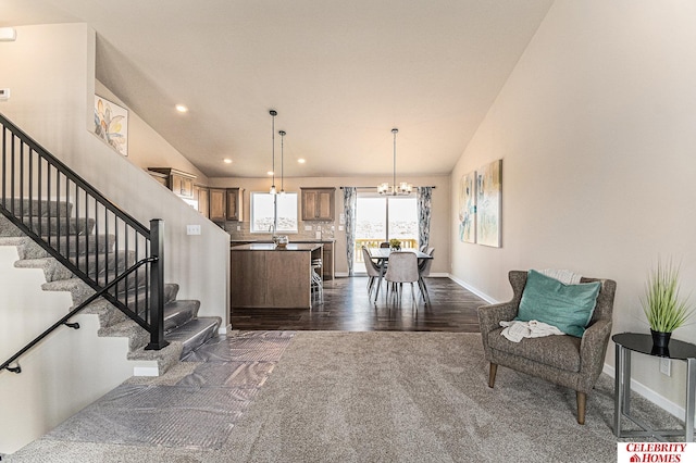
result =
[{"label": "tall off-white right-hand wall behind armchair and side table", "polygon": [[[696,289],[696,3],[559,0],[451,175],[456,277],[496,300],[513,268],[618,283],[614,331],[648,333],[639,297],[659,255]],[[462,243],[457,185],[502,159],[502,248]],[[696,325],[674,338],[696,341]],[[613,365],[610,342],[607,363]],[[681,406],[672,377],[634,355],[634,378]]]}]

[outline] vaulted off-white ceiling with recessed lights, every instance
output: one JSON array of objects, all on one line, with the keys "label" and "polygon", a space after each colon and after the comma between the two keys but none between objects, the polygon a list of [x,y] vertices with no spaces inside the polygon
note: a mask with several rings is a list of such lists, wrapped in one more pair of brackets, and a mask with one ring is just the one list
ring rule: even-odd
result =
[{"label": "vaulted off-white ceiling with recessed lights", "polygon": [[270,109],[286,176],[390,175],[393,127],[399,176],[437,175],[551,3],[0,0],[0,26],[89,24],[97,78],[209,177],[265,176]]}]

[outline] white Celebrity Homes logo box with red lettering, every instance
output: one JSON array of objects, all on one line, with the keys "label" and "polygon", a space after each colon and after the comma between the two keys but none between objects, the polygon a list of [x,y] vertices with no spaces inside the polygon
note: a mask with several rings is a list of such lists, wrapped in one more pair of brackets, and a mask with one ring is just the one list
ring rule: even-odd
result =
[{"label": "white Celebrity Homes logo box with red lettering", "polygon": [[618,442],[618,463],[689,463],[696,462],[696,443],[691,442]]}]

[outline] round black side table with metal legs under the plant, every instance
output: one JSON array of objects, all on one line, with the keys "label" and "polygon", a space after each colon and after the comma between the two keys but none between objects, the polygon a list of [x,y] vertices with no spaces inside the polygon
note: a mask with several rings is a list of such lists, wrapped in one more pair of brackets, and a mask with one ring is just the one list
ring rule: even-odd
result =
[{"label": "round black side table with metal legs under the plant", "polygon": [[[671,339],[667,348],[652,346],[652,337],[647,334],[621,333],[613,335],[616,343],[616,374],[613,396],[613,434],[617,437],[650,436],[664,440],[667,436],[684,436],[685,442],[694,441],[694,412],[696,411],[696,346]],[[683,360],[686,362],[686,416],[684,429],[650,428],[631,416],[631,353],[638,352],[646,355]],[[644,430],[622,430],[621,420],[626,417]]]}]

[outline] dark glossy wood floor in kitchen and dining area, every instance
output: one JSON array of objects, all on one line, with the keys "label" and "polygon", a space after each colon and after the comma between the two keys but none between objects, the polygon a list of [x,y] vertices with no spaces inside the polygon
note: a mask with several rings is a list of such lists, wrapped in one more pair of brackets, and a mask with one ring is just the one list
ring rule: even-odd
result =
[{"label": "dark glossy wood floor in kitchen and dining area", "polygon": [[[403,287],[401,302],[380,291],[368,299],[368,278],[324,281],[324,303],[313,309],[233,309],[233,329],[291,329],[343,331],[459,331],[478,333],[476,308],[486,302],[449,278],[426,278],[431,303],[415,289]],[[418,285],[414,285],[418,288]],[[383,285],[384,289],[384,285]]]}]

